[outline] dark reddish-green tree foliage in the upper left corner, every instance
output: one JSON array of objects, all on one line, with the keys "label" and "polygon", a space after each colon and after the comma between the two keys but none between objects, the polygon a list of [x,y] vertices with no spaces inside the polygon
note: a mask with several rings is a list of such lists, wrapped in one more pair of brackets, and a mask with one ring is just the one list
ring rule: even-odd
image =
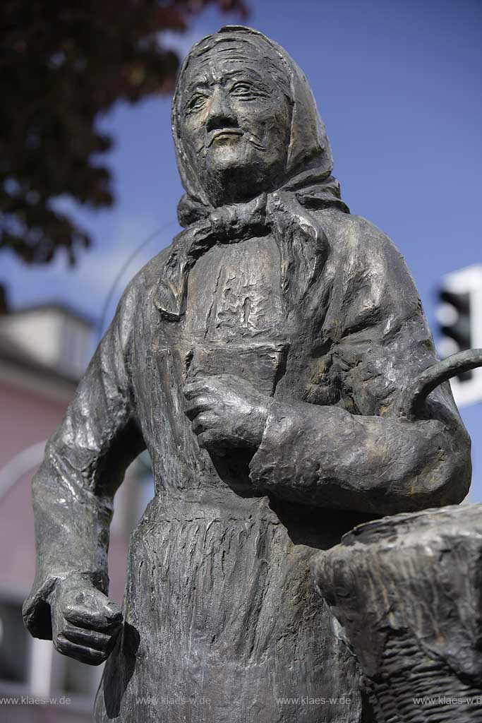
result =
[{"label": "dark reddish-green tree foliage in the upper left corner", "polygon": [[112,139],[96,119],[117,100],[172,90],[176,53],[163,30],[186,30],[207,5],[246,14],[243,0],[2,0],[0,22],[0,248],[74,263],[90,238],[54,208],[67,195],[112,205]]}]

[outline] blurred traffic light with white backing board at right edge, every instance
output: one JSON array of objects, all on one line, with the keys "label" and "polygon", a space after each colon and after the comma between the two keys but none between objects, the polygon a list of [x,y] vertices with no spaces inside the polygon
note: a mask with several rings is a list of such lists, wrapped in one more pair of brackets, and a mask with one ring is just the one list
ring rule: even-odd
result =
[{"label": "blurred traffic light with white backing board at right edge", "polygon": [[[436,318],[442,335],[437,345],[442,357],[482,347],[482,265],[444,276]],[[450,383],[457,404],[482,401],[482,369],[463,372]]]}]

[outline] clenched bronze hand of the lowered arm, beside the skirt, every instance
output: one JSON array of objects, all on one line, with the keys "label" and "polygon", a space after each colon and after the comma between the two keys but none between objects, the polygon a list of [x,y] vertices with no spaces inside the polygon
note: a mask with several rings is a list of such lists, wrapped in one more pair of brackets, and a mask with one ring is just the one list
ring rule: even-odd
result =
[{"label": "clenched bronze hand of the lowered arm, beside the skirt", "polygon": [[59,653],[100,665],[122,625],[115,602],[85,579],[58,581],[51,596],[52,639]]}]

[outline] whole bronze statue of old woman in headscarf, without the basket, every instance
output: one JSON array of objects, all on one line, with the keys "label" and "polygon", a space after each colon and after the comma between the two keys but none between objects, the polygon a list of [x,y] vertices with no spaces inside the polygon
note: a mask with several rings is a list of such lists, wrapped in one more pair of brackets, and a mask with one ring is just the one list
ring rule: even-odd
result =
[{"label": "whole bronze statue of old woman in headscarf, without the basket", "polygon": [[[413,280],[341,200],[283,48],[245,27],[197,43],[173,137],[184,231],[129,283],[48,442],[25,623],[85,662],[112,648],[98,723],[356,723],[310,562],[356,523],[460,502],[470,441],[448,382],[413,387],[437,361]],[[121,612],[108,526],[145,448]]]}]

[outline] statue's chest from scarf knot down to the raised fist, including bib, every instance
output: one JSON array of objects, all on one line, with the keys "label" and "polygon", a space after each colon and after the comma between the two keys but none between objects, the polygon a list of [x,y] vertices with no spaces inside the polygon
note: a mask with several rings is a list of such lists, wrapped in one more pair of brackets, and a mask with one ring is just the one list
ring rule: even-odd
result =
[{"label": "statue's chest from scarf knot down to the raised fist, including bib", "polygon": [[231,374],[271,395],[289,336],[274,239],[217,246],[197,261],[178,343],[182,380]]}]

